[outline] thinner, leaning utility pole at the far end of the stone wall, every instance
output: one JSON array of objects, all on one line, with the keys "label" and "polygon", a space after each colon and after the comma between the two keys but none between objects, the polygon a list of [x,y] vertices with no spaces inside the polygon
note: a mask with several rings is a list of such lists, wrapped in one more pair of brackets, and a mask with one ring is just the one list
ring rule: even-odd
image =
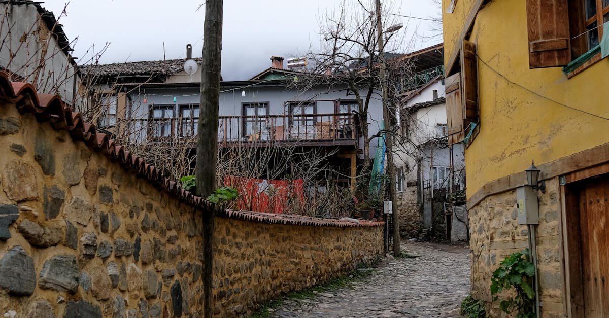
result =
[{"label": "thinner, leaning utility pole at the far end of the stone wall", "polygon": [[387,166],[385,167],[385,173],[389,179],[389,200],[392,202],[392,223],[393,223],[393,255],[398,256],[401,253],[400,249],[400,222],[398,215],[400,211],[397,209],[395,203],[395,175],[393,174],[393,140],[387,132],[391,129],[391,112],[389,110],[389,104],[387,104],[387,64],[385,64],[384,54],[384,39],[382,32],[382,21],[381,21],[381,0],[376,0],[376,32],[379,43],[379,79],[381,80],[381,96],[382,96],[382,119],[384,122],[384,133],[385,135],[385,157],[387,158]]}]

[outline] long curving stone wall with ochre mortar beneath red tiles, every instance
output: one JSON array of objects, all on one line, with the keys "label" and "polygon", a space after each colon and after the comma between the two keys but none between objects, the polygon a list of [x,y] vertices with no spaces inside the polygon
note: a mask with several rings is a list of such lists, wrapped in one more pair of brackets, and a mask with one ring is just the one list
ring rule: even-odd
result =
[{"label": "long curving stone wall with ochre mortar beneath red tiles", "polygon": [[[0,78],[0,313],[201,316],[205,205],[153,182],[150,167],[141,164],[144,174],[128,168],[137,160],[114,152],[86,125],[71,128],[77,116],[63,119],[69,112],[48,96],[40,96],[49,103],[40,106],[36,96],[6,93],[5,83]],[[250,314],[282,292],[382,253],[375,222],[347,227],[256,215],[217,217],[216,316]],[[276,219],[286,224],[264,224]],[[310,226],[315,222],[325,226]]]}]

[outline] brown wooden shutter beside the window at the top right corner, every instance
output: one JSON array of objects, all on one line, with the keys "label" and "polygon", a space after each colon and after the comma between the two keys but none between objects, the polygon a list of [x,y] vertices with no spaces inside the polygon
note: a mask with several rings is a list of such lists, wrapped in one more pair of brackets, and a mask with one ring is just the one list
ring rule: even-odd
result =
[{"label": "brown wooden shutter beside the window at the top right corner", "polygon": [[527,0],[529,68],[571,62],[568,0]]}]

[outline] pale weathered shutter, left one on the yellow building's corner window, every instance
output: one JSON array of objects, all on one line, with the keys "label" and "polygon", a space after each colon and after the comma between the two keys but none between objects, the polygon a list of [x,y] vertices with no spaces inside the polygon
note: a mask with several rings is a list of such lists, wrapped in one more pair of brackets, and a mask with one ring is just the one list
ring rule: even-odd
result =
[{"label": "pale weathered shutter, left one on the yellow building's corner window", "polygon": [[463,141],[463,100],[461,98],[461,73],[453,74],[445,80],[446,122],[448,124],[448,144]]}]

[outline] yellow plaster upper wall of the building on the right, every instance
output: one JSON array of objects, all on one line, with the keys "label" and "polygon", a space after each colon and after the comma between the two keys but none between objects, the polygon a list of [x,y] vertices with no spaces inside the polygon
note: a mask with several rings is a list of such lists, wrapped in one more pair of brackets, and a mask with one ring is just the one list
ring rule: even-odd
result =
[{"label": "yellow plaster upper wall of the building on the right", "polygon": [[[445,35],[457,32],[446,27],[460,25],[444,16]],[[608,58],[571,79],[560,67],[529,69],[525,1],[486,4],[469,40],[479,56],[481,125],[465,151],[468,198],[491,180],[524,171],[531,160],[547,163],[609,142],[609,120],[557,104],[609,118]],[[451,42],[445,41],[446,56]]]}]

